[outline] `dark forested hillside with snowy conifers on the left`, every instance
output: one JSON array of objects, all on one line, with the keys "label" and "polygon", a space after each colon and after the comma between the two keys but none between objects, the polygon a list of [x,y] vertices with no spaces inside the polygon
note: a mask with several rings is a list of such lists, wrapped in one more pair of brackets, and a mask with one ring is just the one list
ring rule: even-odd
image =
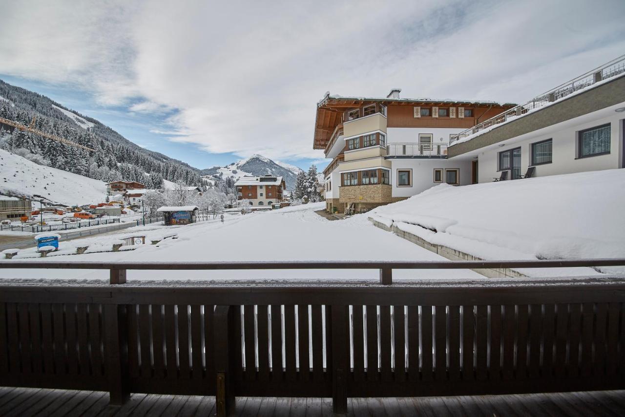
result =
[{"label": "dark forested hillside with snowy conifers on the left", "polygon": [[0,123],[0,146],[40,165],[110,182],[138,181],[149,188],[163,179],[201,185],[199,170],[184,162],[130,142],[98,120],[80,115],[60,103],[0,80],[0,117],[30,125],[79,143],[94,152],[71,147]]}]

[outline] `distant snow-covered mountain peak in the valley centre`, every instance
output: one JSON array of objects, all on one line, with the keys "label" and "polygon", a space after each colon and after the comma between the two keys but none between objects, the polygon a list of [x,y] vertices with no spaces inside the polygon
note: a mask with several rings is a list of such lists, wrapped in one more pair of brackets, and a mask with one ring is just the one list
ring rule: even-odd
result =
[{"label": "distant snow-covered mountain peak in the valley centre", "polygon": [[302,170],[288,163],[272,161],[262,155],[252,155],[249,158],[233,162],[226,167],[210,167],[201,170],[202,177],[214,182],[227,177],[236,180],[245,175],[276,175],[284,178],[286,189],[292,191],[295,188],[295,179]]}]

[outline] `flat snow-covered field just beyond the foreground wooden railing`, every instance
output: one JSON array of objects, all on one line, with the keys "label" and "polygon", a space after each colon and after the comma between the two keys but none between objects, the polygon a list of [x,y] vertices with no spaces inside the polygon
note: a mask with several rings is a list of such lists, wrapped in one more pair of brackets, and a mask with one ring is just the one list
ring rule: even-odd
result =
[{"label": "flat snow-covered field just beyond the foreground wooden railing", "polygon": [[[178,234],[158,245],[144,245],[130,252],[107,252],[36,258],[72,261],[281,261],[281,260],[444,260],[429,250],[399,239],[373,226],[365,215],[329,221],[314,213],[325,203],[286,207],[271,212],[228,215],[181,227],[162,227]],[[125,230],[119,236],[141,231]],[[92,238],[93,239],[93,238]],[[61,242],[63,243],[63,242]],[[74,241],[76,243],[76,241]],[[16,260],[19,262],[19,260]],[[108,270],[2,270],[4,277],[108,278]],[[479,278],[470,270],[396,270],[394,279]],[[235,270],[150,271],[129,270],[129,279],[372,279],[378,270]]]}]

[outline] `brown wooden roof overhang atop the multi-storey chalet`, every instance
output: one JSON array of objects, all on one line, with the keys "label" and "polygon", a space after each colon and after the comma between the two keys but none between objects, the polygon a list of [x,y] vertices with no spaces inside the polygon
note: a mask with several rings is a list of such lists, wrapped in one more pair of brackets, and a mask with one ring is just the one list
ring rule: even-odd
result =
[{"label": "brown wooden roof overhang atop the multi-storey chalet", "polygon": [[356,108],[369,103],[382,103],[385,106],[466,106],[472,108],[501,108],[507,110],[516,106],[514,103],[495,103],[491,101],[457,101],[457,100],[429,100],[429,99],[396,99],[396,98],[366,98],[366,97],[324,97],[317,103],[315,118],[313,149],[326,148],[330,136],[337,125],[341,123],[342,114],[349,108]]}]

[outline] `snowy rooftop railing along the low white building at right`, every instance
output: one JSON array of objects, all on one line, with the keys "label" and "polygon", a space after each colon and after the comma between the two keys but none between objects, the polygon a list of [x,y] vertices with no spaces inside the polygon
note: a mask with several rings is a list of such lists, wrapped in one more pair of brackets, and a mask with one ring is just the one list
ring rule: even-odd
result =
[{"label": "snowy rooftop railing along the low white building at right", "polygon": [[625,55],[612,59],[609,63],[588,71],[584,75],[578,76],[577,78],[573,78],[556,88],[552,88],[551,90],[546,91],[546,93],[542,93],[541,95],[532,98],[532,100],[527,101],[527,103],[513,107],[503,113],[499,113],[499,115],[489,118],[488,120],[484,120],[482,123],[479,123],[472,128],[463,130],[457,135],[451,136],[449,144],[451,145],[462,138],[474,135],[479,131],[491,128],[492,126],[501,125],[501,123],[514,120],[519,116],[531,113],[532,111],[547,106],[556,100],[576,93],[583,88],[592,86],[596,83],[607,80],[608,78],[621,75],[622,73],[625,73]]}]

